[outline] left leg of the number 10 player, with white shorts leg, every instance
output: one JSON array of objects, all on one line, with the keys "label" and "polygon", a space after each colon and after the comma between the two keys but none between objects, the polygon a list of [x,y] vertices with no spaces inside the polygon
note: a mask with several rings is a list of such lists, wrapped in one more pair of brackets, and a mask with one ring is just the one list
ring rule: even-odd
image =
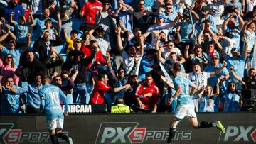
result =
[{"label": "left leg of the number 10 player, with white shorts leg", "polygon": [[51,120],[51,119],[48,119],[46,120],[46,126],[47,126],[47,129],[50,133],[50,140],[53,144],[58,144],[58,138],[57,136],[55,135],[55,129],[57,128],[57,123],[56,123],[56,120]]}]

